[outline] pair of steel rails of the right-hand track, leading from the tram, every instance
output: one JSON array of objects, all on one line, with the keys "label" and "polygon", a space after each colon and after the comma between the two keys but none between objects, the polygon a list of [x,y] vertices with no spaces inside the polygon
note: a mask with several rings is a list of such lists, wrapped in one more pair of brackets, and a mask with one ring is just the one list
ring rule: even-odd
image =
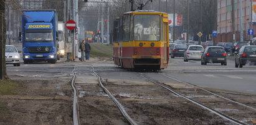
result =
[{"label": "pair of steel rails of the right-hand track, leading from the tram", "polygon": [[[232,118],[230,116],[227,116],[226,114],[223,114],[223,113],[220,113],[220,111],[217,111],[217,110],[214,110],[214,108],[211,108],[210,106],[207,106],[207,105],[204,105],[203,103],[197,101],[197,100],[194,100],[192,98],[189,98],[187,97],[186,95],[182,94],[181,92],[178,92],[178,90],[174,90],[173,88],[171,88],[169,85],[165,85],[163,83],[160,83],[158,82],[157,80],[154,80],[152,79],[151,77],[147,76],[146,74],[144,73],[140,73],[140,75],[142,77],[145,77],[146,79],[148,79],[150,82],[152,82],[153,84],[156,84],[156,85],[159,85],[163,88],[165,88],[166,90],[168,90],[169,92],[171,93],[174,93],[174,95],[177,95],[178,97],[182,97],[188,101],[191,101],[192,103],[200,106],[201,108],[204,108],[208,111],[210,111],[211,113],[214,113],[214,114],[217,114],[217,116],[219,116],[220,118],[223,118],[223,119],[226,119],[234,124],[247,124],[247,123],[244,123],[244,122],[241,122],[239,121],[238,119],[235,119],[235,118]],[[161,74],[163,75],[163,74]],[[163,75],[164,77],[167,77],[168,79],[171,79],[171,77],[168,77],[167,75]],[[177,82],[180,82],[180,83],[183,83],[183,84],[186,84],[184,82],[182,82],[181,80],[177,80],[177,79],[173,79],[173,80],[176,80]],[[192,85],[192,84],[187,84],[187,85]],[[194,87],[197,87],[196,85],[194,85]],[[247,106],[247,105],[244,105],[242,103],[239,103],[237,101],[234,101],[234,100],[230,100],[229,98],[225,98],[225,97],[222,97],[220,95],[217,95],[216,93],[212,93],[210,92],[209,90],[206,90],[204,88],[201,88],[201,87],[198,87],[199,89],[202,89],[203,91],[207,92],[207,93],[211,93],[212,95],[216,96],[216,97],[219,97],[219,98],[222,98],[224,100],[227,100],[227,101],[230,101],[232,103],[236,103],[237,105],[240,105],[240,106],[244,106],[245,108],[249,108],[250,110],[255,110],[255,108],[253,107],[250,107],[250,106]]]}]

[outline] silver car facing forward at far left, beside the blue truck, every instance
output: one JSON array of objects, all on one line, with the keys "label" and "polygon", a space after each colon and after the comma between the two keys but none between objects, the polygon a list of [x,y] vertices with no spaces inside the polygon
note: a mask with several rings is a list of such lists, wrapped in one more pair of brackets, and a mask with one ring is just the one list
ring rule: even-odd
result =
[{"label": "silver car facing forward at far left, beside the blue truck", "polygon": [[17,48],[13,45],[6,45],[6,64],[13,64],[13,66],[20,66],[21,56]]}]

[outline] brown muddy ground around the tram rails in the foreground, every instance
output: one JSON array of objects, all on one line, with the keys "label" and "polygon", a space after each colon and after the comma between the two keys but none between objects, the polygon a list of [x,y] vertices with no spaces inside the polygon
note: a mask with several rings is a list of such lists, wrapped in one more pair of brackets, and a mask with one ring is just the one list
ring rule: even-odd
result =
[{"label": "brown muddy ground around the tram rails in the foreground", "polygon": [[[138,124],[232,124],[164,88],[141,79],[136,72],[124,71],[118,67],[113,69],[111,59],[92,59],[82,64],[59,64],[78,64],[76,85],[80,97],[80,124],[128,124],[115,103],[99,87],[97,77],[90,68],[95,63],[96,66],[102,66],[98,72],[103,76],[103,84]],[[29,77],[12,74],[9,77],[16,80],[18,87],[14,90],[14,95],[0,95],[0,124],[73,124],[73,90],[70,84],[72,75]],[[169,82],[168,85],[184,91],[184,85],[177,82]],[[239,96],[235,92],[213,91],[250,106],[254,106],[256,102],[255,95]],[[212,97],[199,100],[206,104],[220,104]],[[242,116],[246,117],[245,114]],[[250,120],[249,124],[256,124],[254,119]]]}]

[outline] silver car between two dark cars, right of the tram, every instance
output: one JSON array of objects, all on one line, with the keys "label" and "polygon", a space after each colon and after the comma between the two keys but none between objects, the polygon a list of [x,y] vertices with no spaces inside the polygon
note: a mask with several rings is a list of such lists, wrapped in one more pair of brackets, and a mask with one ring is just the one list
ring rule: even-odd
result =
[{"label": "silver car between two dark cars, right of the tram", "polygon": [[184,53],[184,62],[188,60],[201,60],[204,48],[201,45],[190,45]]}]

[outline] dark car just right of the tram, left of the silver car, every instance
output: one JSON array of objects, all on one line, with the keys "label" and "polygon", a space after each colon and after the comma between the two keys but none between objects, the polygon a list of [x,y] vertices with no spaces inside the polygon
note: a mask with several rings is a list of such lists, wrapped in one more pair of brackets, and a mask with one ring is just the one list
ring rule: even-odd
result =
[{"label": "dark car just right of the tram, left of the silver car", "polygon": [[173,51],[171,51],[171,58],[183,57],[184,52],[187,50],[187,45],[174,45]]}]

